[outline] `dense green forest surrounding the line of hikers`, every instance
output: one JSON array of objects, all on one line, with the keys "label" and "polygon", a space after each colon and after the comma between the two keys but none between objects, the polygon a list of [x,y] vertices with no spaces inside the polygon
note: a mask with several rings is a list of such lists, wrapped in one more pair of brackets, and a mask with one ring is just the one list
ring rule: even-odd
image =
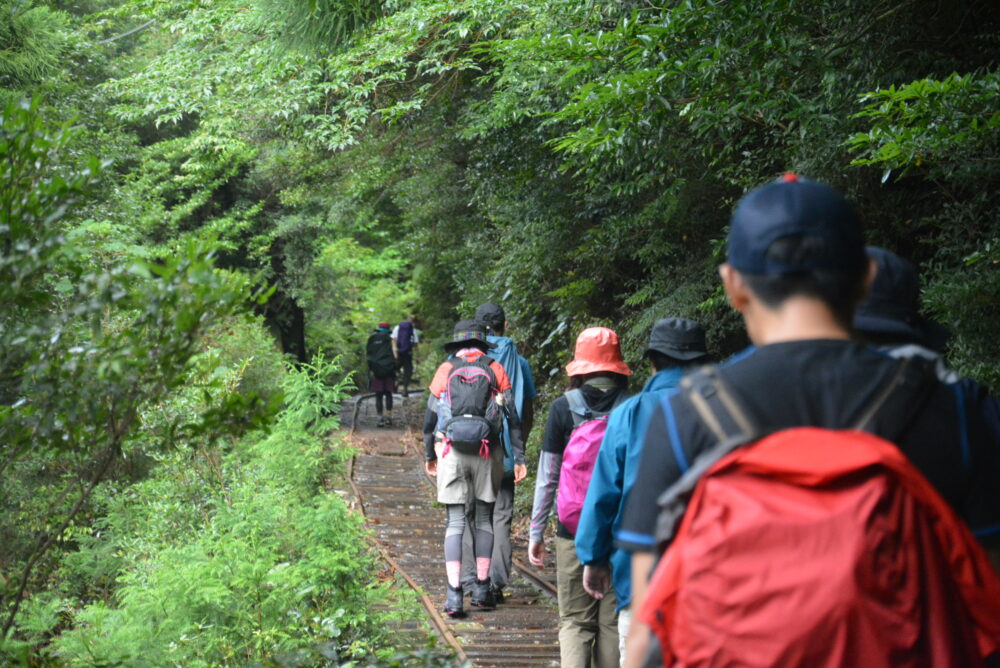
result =
[{"label": "dense green forest surrounding the line of hikers", "polygon": [[998,64],[991,0],[0,0],[0,662],[416,662],[328,491],[374,324],[502,303],[543,408],[585,326],[734,352],[786,170],[1000,388]]}]

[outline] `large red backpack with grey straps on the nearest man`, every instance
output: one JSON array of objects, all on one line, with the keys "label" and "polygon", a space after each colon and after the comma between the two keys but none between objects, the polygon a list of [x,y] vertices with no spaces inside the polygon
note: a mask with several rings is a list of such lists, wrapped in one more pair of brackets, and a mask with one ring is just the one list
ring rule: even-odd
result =
[{"label": "large red backpack with grey straps on the nearest man", "polygon": [[886,403],[919,407],[895,392],[914,386],[907,366],[854,430],[759,440],[718,376],[688,383],[720,442],[660,499],[657,536],[672,541],[639,611],[659,663],[959,668],[1000,649],[985,552],[896,446],[860,430]]}]

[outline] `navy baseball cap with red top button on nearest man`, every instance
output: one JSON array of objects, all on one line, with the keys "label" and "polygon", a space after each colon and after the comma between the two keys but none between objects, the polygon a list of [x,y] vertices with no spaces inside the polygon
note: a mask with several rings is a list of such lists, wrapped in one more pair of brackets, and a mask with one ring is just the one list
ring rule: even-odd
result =
[{"label": "navy baseball cap with red top button on nearest man", "polygon": [[[771,244],[788,237],[820,243],[795,258],[769,258]],[[830,186],[785,174],[740,200],[729,222],[726,261],[754,275],[853,273],[867,262],[861,220],[847,198]]]}]

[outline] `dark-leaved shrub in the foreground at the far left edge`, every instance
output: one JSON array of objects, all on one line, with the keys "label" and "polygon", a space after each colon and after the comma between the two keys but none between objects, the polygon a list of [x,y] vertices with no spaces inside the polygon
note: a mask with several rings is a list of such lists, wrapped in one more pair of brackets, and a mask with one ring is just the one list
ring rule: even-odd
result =
[{"label": "dark-leaved shrub in the foreground at the far left edge", "polygon": [[[72,542],[143,410],[189,380],[205,327],[239,310],[251,290],[194,245],[128,270],[82,271],[61,223],[100,165],[68,164],[70,131],[48,132],[35,105],[10,105],[0,127],[0,472],[12,492],[2,513],[11,539],[3,557],[10,577],[0,583],[6,638],[29,586],[44,580],[49,551]],[[175,416],[162,440],[238,434],[267,415],[255,397],[220,399]]]}]

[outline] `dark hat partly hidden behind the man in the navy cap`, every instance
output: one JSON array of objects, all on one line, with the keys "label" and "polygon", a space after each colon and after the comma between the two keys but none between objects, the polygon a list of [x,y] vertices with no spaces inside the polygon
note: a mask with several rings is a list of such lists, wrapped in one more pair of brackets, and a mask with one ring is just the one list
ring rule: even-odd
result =
[{"label": "dark hat partly hidden behind the man in the navy cap", "polygon": [[895,335],[902,341],[942,349],[948,332],[920,315],[920,279],[916,268],[878,246],[868,246],[865,252],[875,261],[877,272],[868,297],[854,310],[854,329]]}]

